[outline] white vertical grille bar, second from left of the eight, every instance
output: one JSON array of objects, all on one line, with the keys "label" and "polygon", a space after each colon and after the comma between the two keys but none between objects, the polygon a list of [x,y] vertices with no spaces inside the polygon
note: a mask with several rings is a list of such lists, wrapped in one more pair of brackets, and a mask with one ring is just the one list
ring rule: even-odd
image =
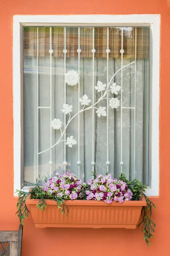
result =
[{"label": "white vertical grille bar, second from left of the eight", "polygon": [[[52,121],[52,27],[50,27],[50,121]],[[50,147],[52,147],[52,126],[50,123]],[[50,149],[50,178],[52,176],[52,149]]]}]

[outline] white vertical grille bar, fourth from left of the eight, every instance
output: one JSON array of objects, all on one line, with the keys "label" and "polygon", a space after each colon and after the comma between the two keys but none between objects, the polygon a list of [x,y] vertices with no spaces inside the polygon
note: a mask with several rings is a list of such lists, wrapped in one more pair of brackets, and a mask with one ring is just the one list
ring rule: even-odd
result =
[{"label": "white vertical grille bar, fourth from left of the eight", "polygon": [[[81,49],[80,49],[80,27],[78,28],[78,74],[80,76],[80,53],[81,53]],[[80,99],[80,80],[78,81],[78,111],[80,111],[80,103],[79,103],[79,99]],[[80,115],[78,115],[78,178],[80,178],[80,165],[81,165],[81,161],[80,161]]]}]

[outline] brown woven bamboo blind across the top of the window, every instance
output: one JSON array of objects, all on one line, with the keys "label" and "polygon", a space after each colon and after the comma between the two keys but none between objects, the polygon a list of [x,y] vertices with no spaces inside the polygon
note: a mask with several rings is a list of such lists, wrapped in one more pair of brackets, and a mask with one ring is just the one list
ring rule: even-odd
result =
[{"label": "brown woven bamboo blind across the top of the window", "polygon": [[[149,58],[147,27],[136,29],[136,58]],[[92,27],[80,28],[81,57],[92,57]],[[50,28],[38,27],[38,56],[49,56]],[[52,27],[53,56],[64,57],[64,28]],[[67,57],[78,57],[78,27],[66,28]],[[107,57],[107,28],[95,27],[95,57]],[[121,28],[109,27],[109,57],[121,57]],[[124,58],[135,58],[135,28],[124,29]],[[24,28],[24,56],[37,56],[37,27]]]}]

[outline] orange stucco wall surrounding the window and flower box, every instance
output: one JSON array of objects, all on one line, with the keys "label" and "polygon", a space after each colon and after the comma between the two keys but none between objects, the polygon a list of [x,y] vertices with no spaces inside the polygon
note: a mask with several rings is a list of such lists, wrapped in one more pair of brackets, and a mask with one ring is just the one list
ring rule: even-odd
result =
[{"label": "orange stucco wall surrounding the window and flower box", "polygon": [[36,229],[25,221],[23,256],[170,255],[170,0],[0,0],[0,230],[17,230],[13,197],[12,17],[60,14],[160,14],[160,196],[153,202],[152,246],[139,230]]}]

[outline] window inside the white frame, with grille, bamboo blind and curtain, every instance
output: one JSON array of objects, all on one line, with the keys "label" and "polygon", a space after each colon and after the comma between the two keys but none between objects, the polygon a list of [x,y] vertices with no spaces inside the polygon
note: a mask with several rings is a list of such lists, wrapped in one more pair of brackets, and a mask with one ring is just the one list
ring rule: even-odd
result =
[{"label": "window inside the white frame, with grille, bamboo blind and curtain", "polygon": [[44,25],[20,29],[22,186],[69,169],[152,189],[150,25]]}]

